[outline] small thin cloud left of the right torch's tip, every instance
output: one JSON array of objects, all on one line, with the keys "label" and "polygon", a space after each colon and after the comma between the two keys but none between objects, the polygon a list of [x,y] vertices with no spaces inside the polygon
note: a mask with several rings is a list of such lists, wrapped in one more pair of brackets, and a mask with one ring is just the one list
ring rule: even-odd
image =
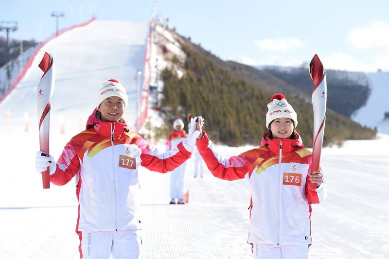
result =
[{"label": "small thin cloud left of the right torch's tip", "polygon": [[290,38],[266,38],[254,41],[260,51],[286,52],[295,48],[304,47],[303,42],[294,37]]}]

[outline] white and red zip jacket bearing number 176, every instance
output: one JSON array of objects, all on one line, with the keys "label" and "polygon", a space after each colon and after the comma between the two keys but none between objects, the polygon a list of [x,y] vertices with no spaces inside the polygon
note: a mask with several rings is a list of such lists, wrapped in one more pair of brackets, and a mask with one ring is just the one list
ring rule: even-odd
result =
[{"label": "white and red zip jacket bearing number 176", "polygon": [[[205,132],[204,132],[205,133]],[[327,196],[325,178],[317,188],[309,187],[312,153],[297,139],[268,139],[262,146],[223,159],[206,134],[197,149],[211,173],[220,179],[247,178],[251,191],[248,243],[312,244],[311,205]]]}]

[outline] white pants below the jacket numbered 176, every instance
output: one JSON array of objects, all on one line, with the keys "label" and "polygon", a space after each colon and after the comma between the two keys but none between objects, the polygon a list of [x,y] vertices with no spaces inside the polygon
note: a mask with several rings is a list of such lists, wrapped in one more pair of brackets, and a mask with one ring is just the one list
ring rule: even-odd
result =
[{"label": "white pants below the jacket numbered 176", "polygon": [[308,259],[308,245],[254,244],[253,259]]}]

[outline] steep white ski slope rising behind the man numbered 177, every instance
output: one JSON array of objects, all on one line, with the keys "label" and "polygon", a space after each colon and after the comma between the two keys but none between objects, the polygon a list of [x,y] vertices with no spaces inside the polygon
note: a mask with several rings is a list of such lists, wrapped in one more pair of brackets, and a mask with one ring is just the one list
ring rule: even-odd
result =
[{"label": "steep white ski slope rising behind the man numbered 177", "polygon": [[[133,128],[135,77],[138,69],[143,72],[148,35],[148,23],[94,20],[52,39],[42,47],[18,86],[0,103],[0,124],[5,125],[5,111],[9,110],[12,123],[24,123],[24,113],[28,112],[30,128],[38,126],[36,87],[43,75],[38,64],[48,52],[53,55],[56,69],[51,99],[53,131],[59,131],[59,118],[63,117],[65,131],[77,134],[78,117],[86,123],[95,107],[99,86],[108,79],[118,80],[126,89],[129,100],[124,120]],[[0,132],[4,129],[1,127]]]}]

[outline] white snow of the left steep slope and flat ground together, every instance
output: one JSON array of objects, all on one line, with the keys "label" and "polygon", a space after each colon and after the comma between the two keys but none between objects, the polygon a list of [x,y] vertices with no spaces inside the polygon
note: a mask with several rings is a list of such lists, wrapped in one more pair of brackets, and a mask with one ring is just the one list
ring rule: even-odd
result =
[{"label": "white snow of the left steep slope and flat ground together", "polygon": [[[51,49],[47,51],[53,53],[57,66],[50,138],[55,159],[77,133],[77,121],[71,120],[82,115],[85,124],[84,116],[94,107],[96,87],[106,79],[126,82],[122,84],[130,87],[130,100],[136,100],[131,87],[135,87],[137,67],[143,65],[147,33],[145,23],[97,20],[48,43]],[[58,46],[73,47],[61,52]],[[35,94],[41,76],[36,65],[0,103],[0,258],[79,258],[74,179],[43,190],[34,168],[39,149]],[[127,109],[126,121],[133,121],[134,109]],[[12,114],[10,132],[5,124],[7,110]],[[24,132],[26,111],[31,113],[28,132]],[[60,134],[57,125],[59,114],[71,116],[65,117],[65,134]],[[379,134],[374,140],[346,141],[341,148],[323,150],[328,197],[313,206],[311,259],[389,258],[388,146],[389,135]],[[159,147],[164,150],[163,145]],[[217,146],[217,151],[229,157],[251,148]],[[204,178],[194,178],[193,163],[191,159],[187,166],[185,189],[190,197],[186,205],[168,204],[169,173],[141,168],[143,258],[252,258],[247,244],[247,180],[223,181],[208,170]]]}]

